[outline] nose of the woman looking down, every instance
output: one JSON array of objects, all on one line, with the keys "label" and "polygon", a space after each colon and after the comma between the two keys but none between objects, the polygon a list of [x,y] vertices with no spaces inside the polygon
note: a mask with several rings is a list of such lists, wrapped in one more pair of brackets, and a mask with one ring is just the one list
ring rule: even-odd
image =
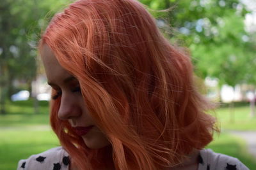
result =
[{"label": "nose of the woman looking down", "polygon": [[61,120],[68,120],[71,118],[79,117],[79,115],[81,115],[81,108],[76,102],[76,97],[62,93],[58,118]]}]

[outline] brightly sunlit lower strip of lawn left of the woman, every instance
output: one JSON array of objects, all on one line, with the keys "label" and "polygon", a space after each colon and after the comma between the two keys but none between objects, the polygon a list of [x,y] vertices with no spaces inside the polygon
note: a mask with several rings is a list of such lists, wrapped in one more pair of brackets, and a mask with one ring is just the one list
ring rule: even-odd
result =
[{"label": "brightly sunlit lower strip of lawn left of the woman", "polygon": [[20,159],[58,146],[58,139],[51,131],[31,129],[1,129],[0,169],[17,169]]}]

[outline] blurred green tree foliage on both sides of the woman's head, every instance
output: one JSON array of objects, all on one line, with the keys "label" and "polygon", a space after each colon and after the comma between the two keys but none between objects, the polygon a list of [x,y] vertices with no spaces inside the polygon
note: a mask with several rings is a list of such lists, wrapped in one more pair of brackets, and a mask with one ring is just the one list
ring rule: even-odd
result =
[{"label": "blurred green tree foliage on both sides of the woman's head", "polygon": [[[216,77],[221,84],[232,86],[255,83],[256,34],[244,31],[248,11],[241,1],[140,1],[165,23],[161,29],[170,41],[189,47],[198,76]],[[13,94],[14,80],[26,82],[24,88],[29,89],[38,74],[36,44],[40,34],[52,15],[70,2],[5,0],[0,4],[0,104]],[[244,36],[248,40],[244,41]]]}]

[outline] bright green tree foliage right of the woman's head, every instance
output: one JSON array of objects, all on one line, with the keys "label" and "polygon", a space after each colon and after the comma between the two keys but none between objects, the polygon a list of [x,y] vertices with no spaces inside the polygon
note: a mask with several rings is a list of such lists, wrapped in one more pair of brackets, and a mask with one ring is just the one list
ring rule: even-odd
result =
[{"label": "bright green tree foliage right of the woman's head", "polygon": [[[216,77],[221,85],[252,82],[255,73],[255,41],[244,30],[248,11],[241,1],[232,0],[141,0],[158,18],[172,25],[171,41],[188,46],[198,76]],[[243,38],[249,38],[244,41]],[[182,42],[180,42],[182,39]],[[254,47],[254,48],[253,48]]]}]

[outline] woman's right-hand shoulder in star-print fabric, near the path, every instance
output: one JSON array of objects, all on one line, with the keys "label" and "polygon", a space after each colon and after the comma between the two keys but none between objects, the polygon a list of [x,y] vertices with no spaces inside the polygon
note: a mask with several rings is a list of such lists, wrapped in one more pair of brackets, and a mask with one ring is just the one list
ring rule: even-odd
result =
[{"label": "woman's right-hand shoulder in star-print fabric, near the path", "polygon": [[232,169],[232,170],[249,170],[242,162],[234,157],[215,153],[211,149],[200,150],[199,156],[200,169]]}]

